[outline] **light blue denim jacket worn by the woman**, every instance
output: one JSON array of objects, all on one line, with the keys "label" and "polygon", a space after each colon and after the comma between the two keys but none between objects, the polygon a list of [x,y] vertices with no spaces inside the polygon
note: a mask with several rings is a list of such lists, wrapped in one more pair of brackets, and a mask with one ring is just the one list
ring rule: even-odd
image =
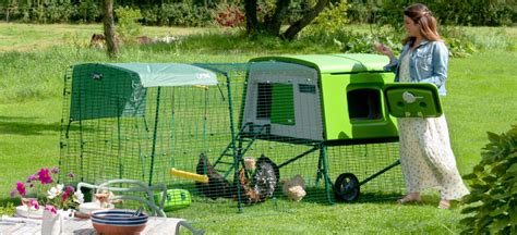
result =
[{"label": "light blue denim jacket worn by the woman", "polygon": [[[395,82],[399,82],[399,61],[409,51],[405,45],[400,58],[384,66],[385,71],[395,72]],[[447,79],[448,49],[443,41],[422,40],[409,59],[409,73],[414,83],[432,83],[438,88],[438,94],[445,96],[445,79]]]}]

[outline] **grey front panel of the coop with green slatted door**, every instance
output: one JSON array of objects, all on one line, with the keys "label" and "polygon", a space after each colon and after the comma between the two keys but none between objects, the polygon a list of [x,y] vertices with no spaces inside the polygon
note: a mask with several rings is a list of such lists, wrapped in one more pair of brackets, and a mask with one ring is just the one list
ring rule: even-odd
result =
[{"label": "grey front panel of the coop with green slatted door", "polygon": [[[269,134],[274,136],[323,139],[317,77],[316,70],[299,64],[252,63],[248,76],[241,125],[247,123],[270,125]],[[284,89],[284,92],[278,91],[277,88],[280,86],[289,86],[290,89]],[[289,103],[293,107],[287,109],[282,101],[289,100],[292,100]],[[291,116],[287,113],[291,110],[292,120],[279,121],[275,118]]]}]

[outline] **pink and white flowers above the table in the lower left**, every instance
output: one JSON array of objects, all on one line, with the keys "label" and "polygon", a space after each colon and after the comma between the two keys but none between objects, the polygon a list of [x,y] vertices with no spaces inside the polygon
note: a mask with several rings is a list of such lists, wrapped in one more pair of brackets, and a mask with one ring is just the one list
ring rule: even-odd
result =
[{"label": "pink and white flowers above the table in the lower left", "polygon": [[[81,191],[75,191],[73,186],[56,184],[52,175],[59,174],[58,168],[43,168],[36,173],[29,175],[25,182],[17,182],[16,187],[11,190],[11,197],[19,195],[22,205],[29,210],[40,210],[40,206],[45,205],[44,210],[57,213],[58,210],[76,209],[84,202],[84,196]],[[73,178],[74,174],[69,173],[68,177]]]}]

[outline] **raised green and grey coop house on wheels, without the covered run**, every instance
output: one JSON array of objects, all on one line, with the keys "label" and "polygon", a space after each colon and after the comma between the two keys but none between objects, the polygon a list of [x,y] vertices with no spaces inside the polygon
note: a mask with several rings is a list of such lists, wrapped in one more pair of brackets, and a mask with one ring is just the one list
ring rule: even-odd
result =
[{"label": "raised green and grey coop house on wheels, without the covered run", "polygon": [[[337,200],[356,200],[359,187],[372,180],[368,190],[400,191],[399,170],[382,175],[399,164],[395,118],[437,116],[441,107],[431,84],[394,84],[394,74],[383,69],[387,62],[375,54],[253,59],[241,136],[312,146],[279,168],[314,152],[316,182],[324,178],[329,201],[329,188]],[[362,181],[352,173],[339,174],[350,171],[361,172]]]}]

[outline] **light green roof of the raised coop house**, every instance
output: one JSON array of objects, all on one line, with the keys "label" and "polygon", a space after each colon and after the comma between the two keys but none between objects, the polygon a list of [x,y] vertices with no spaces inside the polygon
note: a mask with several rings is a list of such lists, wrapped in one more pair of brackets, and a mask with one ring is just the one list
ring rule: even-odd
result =
[{"label": "light green roof of the raised coop house", "polygon": [[384,55],[362,53],[263,57],[253,59],[251,62],[260,61],[299,63],[314,67],[318,70],[321,74],[382,72],[384,71],[384,65],[389,62],[387,57]]}]

